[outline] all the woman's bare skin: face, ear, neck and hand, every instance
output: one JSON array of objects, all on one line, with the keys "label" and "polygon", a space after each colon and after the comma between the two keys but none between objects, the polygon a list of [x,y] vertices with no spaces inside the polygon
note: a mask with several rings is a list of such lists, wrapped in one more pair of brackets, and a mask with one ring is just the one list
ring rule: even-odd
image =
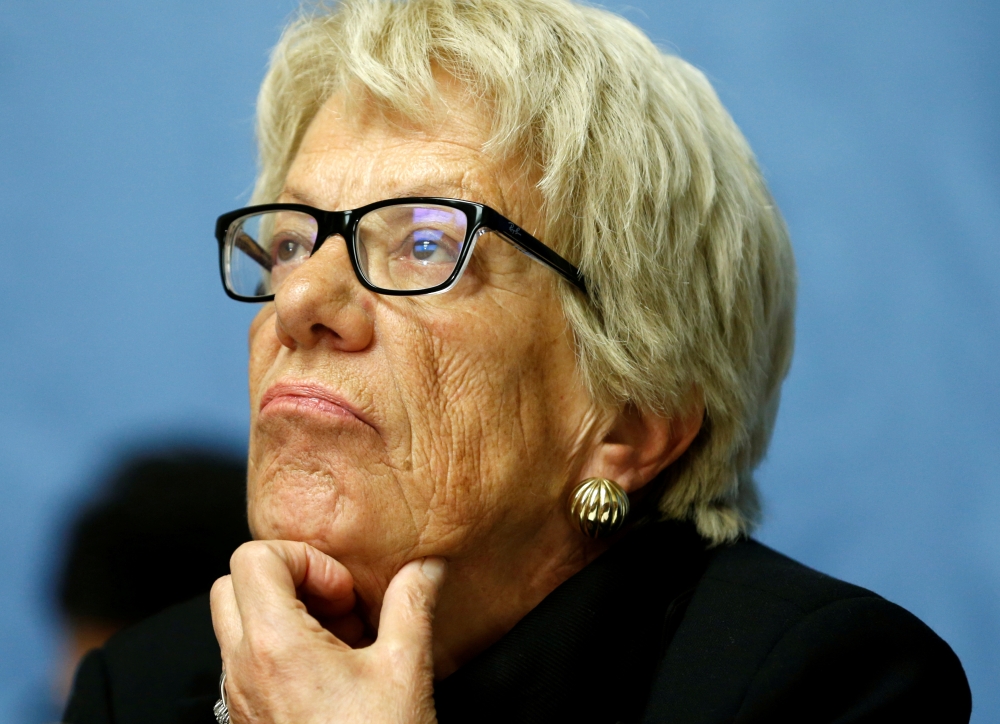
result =
[{"label": "all the woman's bare skin: face, ear, neck and hand", "polygon": [[[427,128],[334,96],[280,200],[463,198],[540,234],[536,179],[482,151],[487,126],[459,88],[443,83],[442,96]],[[593,403],[561,283],[487,234],[453,290],[380,296],[333,238],[258,314],[248,495],[261,542],[213,590],[234,722],[332,710],[338,721],[432,721],[433,676],[603,550],[569,520],[572,488],[601,476],[634,494],[697,433],[698,411],[671,421]],[[355,414],[302,396],[268,402],[279,382],[321,385]],[[351,691],[364,706],[352,708]]]}]

